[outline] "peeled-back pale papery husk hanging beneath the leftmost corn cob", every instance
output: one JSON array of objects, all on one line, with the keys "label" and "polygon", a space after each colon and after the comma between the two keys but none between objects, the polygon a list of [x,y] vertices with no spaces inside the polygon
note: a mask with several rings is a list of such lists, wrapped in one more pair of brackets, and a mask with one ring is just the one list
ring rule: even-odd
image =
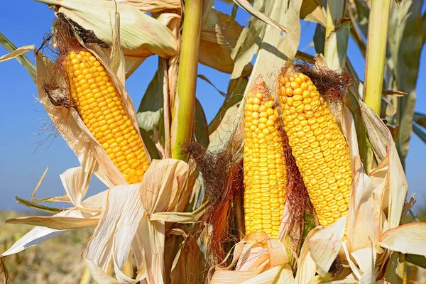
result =
[{"label": "peeled-back pale papery husk hanging beneath the leftmost corn cob", "polygon": [[[157,213],[175,209],[192,191],[194,171],[182,160],[153,160],[141,184],[119,185],[109,190],[102,206],[99,224],[89,239],[82,258],[98,283],[109,283],[109,261],[114,261],[117,283],[164,283],[165,222],[167,216],[151,219]],[[182,192],[177,195],[176,192]],[[170,212],[171,213],[171,212]],[[180,215],[180,222],[196,222],[190,214]],[[114,228],[114,229],[111,229]],[[135,253],[138,275],[128,278],[122,269],[130,251]]]}]

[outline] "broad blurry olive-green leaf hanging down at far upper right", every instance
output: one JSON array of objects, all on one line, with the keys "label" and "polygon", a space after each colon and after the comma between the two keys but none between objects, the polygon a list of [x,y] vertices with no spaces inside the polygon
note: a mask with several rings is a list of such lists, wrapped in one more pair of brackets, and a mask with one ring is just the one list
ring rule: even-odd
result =
[{"label": "broad blurry olive-green leaf hanging down at far upper right", "polygon": [[422,4],[422,0],[406,0],[400,5],[392,1],[389,18],[388,43],[391,57],[388,59],[388,66],[391,77],[388,79],[387,88],[408,93],[404,97],[394,99],[394,102],[397,102],[396,124],[399,126],[396,146],[403,166],[413,129],[415,85],[424,44],[423,31],[420,28],[423,24],[420,13]]}]

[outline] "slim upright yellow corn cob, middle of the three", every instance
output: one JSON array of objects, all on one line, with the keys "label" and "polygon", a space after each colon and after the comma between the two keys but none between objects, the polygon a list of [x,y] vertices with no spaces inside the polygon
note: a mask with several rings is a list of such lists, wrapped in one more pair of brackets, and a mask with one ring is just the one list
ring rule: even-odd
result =
[{"label": "slim upright yellow corn cob, middle of the three", "polygon": [[285,203],[287,167],[278,111],[264,82],[249,92],[244,118],[244,212],[246,234],[278,237]]}]

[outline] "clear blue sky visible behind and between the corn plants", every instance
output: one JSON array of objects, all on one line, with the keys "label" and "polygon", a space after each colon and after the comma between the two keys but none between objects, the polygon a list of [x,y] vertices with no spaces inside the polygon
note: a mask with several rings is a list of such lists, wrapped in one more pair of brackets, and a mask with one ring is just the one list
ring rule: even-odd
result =
[{"label": "clear blue sky visible behind and between the corn plants", "polygon": [[[220,11],[230,13],[231,5],[216,2],[215,7]],[[424,9],[423,9],[424,10]],[[50,31],[54,18],[53,11],[45,4],[33,0],[3,1],[0,17],[0,31],[17,46],[34,44],[40,46],[43,35]],[[246,24],[249,16],[239,11],[237,20]],[[302,38],[299,49],[307,53],[315,50],[307,46],[312,41],[315,24],[302,22]],[[425,48],[423,48],[423,52]],[[6,50],[0,46],[0,55]],[[28,53],[31,60],[33,55]],[[349,55],[356,71],[364,77],[364,58],[353,41],[349,44]],[[143,93],[151,81],[157,67],[157,58],[151,57],[129,78],[126,87],[133,99],[136,109],[141,102]],[[219,89],[226,91],[230,75],[217,72],[209,67],[200,65],[199,74],[205,75]],[[417,82],[416,110],[426,113],[426,62],[423,56],[420,62],[420,73]],[[61,137],[51,144],[43,143],[36,148],[45,136],[36,136],[43,121],[46,121],[45,111],[40,104],[35,104],[33,95],[37,89],[26,70],[16,60],[0,63],[1,104],[0,119],[0,210],[25,209],[15,201],[15,196],[30,198],[31,192],[49,167],[43,184],[38,191],[38,197],[63,195],[64,190],[59,175],[67,168],[79,165],[74,153],[68,148]],[[198,80],[197,97],[200,99],[207,116],[211,121],[222,105],[222,96],[203,80]],[[424,207],[426,200],[426,145],[413,134],[410,142],[410,152],[407,158],[407,176],[409,192],[417,192],[416,207]],[[93,180],[89,195],[105,190],[98,180]]]}]

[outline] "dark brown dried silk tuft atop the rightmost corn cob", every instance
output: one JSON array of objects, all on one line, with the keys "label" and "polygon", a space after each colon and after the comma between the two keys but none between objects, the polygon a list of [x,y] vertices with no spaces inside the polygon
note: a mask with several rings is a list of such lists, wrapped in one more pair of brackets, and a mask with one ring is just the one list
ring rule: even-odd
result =
[{"label": "dark brown dried silk tuft atop the rightmost corn cob", "polygon": [[338,102],[342,102],[344,90],[351,87],[354,80],[348,72],[329,70],[327,67],[312,65],[303,60],[290,62],[281,70],[282,74],[295,72],[310,77],[324,99]]}]

